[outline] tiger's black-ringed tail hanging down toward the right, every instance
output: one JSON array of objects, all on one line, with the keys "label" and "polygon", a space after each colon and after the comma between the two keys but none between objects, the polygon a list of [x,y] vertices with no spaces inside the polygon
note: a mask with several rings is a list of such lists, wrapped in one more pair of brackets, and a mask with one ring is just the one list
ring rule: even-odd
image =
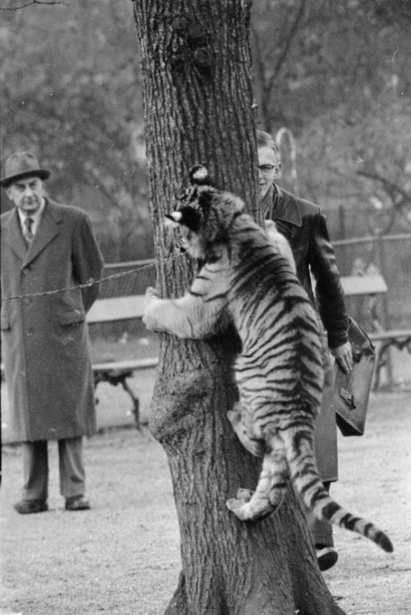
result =
[{"label": "tiger's black-ringed tail hanging down toward the right", "polygon": [[[290,446],[290,455],[287,457],[292,483],[303,499],[303,503],[314,516],[319,520],[326,520],[339,527],[357,532],[373,540],[384,551],[392,553],[393,544],[382,530],[375,527],[373,523],[351,514],[327,493],[316,469],[312,433],[295,431],[290,437]],[[286,450],[287,448],[288,446]]]}]

